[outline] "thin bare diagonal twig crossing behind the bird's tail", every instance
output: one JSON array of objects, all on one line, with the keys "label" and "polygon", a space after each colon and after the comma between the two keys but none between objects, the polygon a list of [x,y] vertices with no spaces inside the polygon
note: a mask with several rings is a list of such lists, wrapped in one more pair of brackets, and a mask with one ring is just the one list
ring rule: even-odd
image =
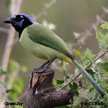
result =
[{"label": "thin bare diagonal twig crossing behind the bird's tail", "polygon": [[[85,69],[89,68],[93,63],[95,63],[98,59],[100,59],[102,56],[104,56],[106,53],[108,53],[108,50],[105,51],[103,54],[101,54],[100,56],[98,56],[94,61],[92,61]],[[79,76],[81,75],[81,73],[79,73],[76,77],[74,77],[74,79],[71,78],[71,80],[65,84],[63,87],[60,88],[63,89],[65,87],[67,87],[71,82],[73,82],[74,80],[76,80]]]}]

